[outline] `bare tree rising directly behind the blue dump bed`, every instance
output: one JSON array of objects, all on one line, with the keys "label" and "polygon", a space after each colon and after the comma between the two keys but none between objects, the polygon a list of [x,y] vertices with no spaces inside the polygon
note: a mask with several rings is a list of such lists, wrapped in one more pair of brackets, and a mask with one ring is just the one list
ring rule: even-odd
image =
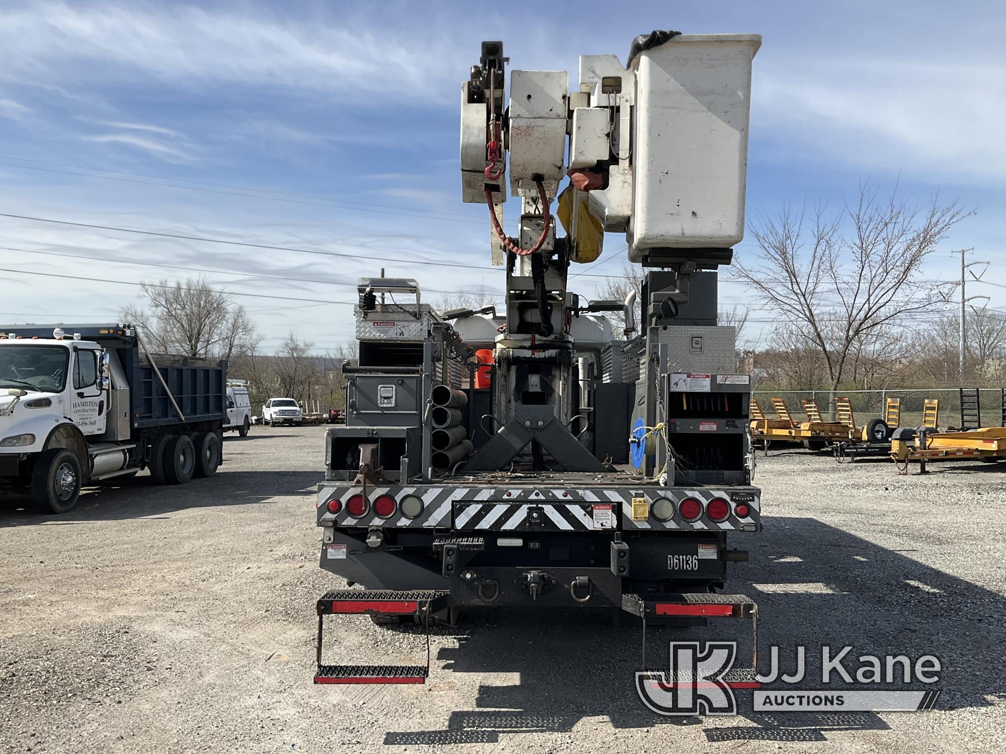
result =
[{"label": "bare tree rising directly behind the blue dump bed", "polygon": [[140,329],[154,351],[230,361],[258,342],[244,308],[226,292],[214,290],[206,277],[141,286],[146,307],[127,307],[122,316]]}]

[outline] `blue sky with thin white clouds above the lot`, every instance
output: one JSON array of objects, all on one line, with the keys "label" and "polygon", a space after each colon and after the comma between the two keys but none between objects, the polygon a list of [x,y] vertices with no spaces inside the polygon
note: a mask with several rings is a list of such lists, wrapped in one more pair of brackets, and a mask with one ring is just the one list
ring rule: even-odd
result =
[{"label": "blue sky with thin white clouds above the lot", "polygon": [[[748,214],[804,197],[837,206],[863,179],[897,182],[921,202],[939,193],[978,213],[953,229],[927,276],[954,279],[950,250],[974,246],[992,262],[985,279],[1006,282],[1003,4],[476,7],[4,4],[0,212],[342,256],[0,217],[0,246],[22,249],[0,250],[0,267],[93,278],[2,271],[0,321],[114,320],[137,296],[116,281],[192,273],[156,264],[201,267],[242,295],[267,351],[293,329],[321,352],[350,336],[351,307],[309,305],[350,302],[356,278],[381,266],[416,277],[433,299],[498,293],[485,209],[460,201],[459,89],[479,42],[504,40],[511,68],[569,70],[574,87],[578,55],[624,62],[632,38],[654,28],[763,35]],[[609,261],[592,273],[617,273],[624,245],[609,238]],[[749,241],[737,252],[750,253]],[[589,297],[603,281],[577,279]],[[757,305],[741,286],[721,293]],[[969,294],[1006,307],[1006,289]]]}]

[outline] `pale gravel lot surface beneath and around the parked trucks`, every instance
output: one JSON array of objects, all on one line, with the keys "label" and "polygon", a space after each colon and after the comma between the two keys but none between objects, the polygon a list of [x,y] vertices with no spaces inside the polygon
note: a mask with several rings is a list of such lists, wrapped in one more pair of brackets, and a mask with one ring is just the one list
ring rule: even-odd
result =
[{"label": "pale gravel lot surface beneath and around the parked trucks", "polygon": [[[426,686],[316,687],[313,490],[322,427],[228,435],[209,481],[146,475],[65,516],[0,506],[0,751],[993,751],[1006,744],[1006,485],[996,465],[840,465],[759,456],[765,529],[732,544],[732,591],[762,611],[763,657],[933,653],[937,710],[666,719],[632,690],[640,631],[607,612],[477,613],[437,629]],[[332,662],[414,662],[422,634],[343,623]],[[654,629],[747,641],[746,621]],[[331,631],[334,636],[334,631]],[[662,663],[666,663],[666,646]],[[817,663],[817,664],[816,664]],[[651,665],[660,665],[651,659]],[[850,664],[856,668],[854,661]],[[808,659],[809,675],[819,662]],[[763,664],[764,667],[764,664]],[[822,688],[817,683],[807,688]],[[917,686],[916,686],[917,688]],[[746,695],[746,696],[745,696]]]}]

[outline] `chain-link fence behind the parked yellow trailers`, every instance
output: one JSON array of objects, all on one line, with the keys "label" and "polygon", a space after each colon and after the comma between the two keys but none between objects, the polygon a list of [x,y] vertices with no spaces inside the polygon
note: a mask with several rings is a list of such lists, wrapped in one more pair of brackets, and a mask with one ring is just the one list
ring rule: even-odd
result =
[{"label": "chain-link fence behind the parked yellow trailers", "polygon": [[[940,401],[940,417],[938,426],[960,427],[961,422],[961,389],[950,388],[921,388],[921,389],[890,389],[890,390],[839,390],[835,393],[837,397],[848,397],[852,404],[852,412],[856,419],[856,426],[863,426],[873,418],[883,418],[886,410],[887,398],[900,398],[901,400],[901,426],[921,426],[923,407],[927,398],[936,398]],[[834,420],[835,406],[830,390],[754,390],[751,397],[758,400],[767,416],[774,416],[772,399],[779,397],[786,401],[790,413],[795,421],[805,421],[804,400],[817,401],[821,409],[822,416]],[[981,388],[978,391],[979,406],[981,409],[982,426],[1006,426],[1004,412],[1006,412],[1006,397],[1002,388]],[[967,404],[967,397],[965,402]],[[971,415],[974,413],[972,411]]]}]

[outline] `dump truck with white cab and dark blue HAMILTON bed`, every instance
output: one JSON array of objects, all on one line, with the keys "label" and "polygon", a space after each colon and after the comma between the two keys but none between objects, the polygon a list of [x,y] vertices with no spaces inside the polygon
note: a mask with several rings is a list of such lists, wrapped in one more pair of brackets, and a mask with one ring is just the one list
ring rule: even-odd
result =
[{"label": "dump truck with white cab and dark blue HAMILTON bed", "polygon": [[66,513],[86,485],[150,469],[157,484],[220,464],[226,362],[151,354],[132,325],[4,326],[0,493]]}]

